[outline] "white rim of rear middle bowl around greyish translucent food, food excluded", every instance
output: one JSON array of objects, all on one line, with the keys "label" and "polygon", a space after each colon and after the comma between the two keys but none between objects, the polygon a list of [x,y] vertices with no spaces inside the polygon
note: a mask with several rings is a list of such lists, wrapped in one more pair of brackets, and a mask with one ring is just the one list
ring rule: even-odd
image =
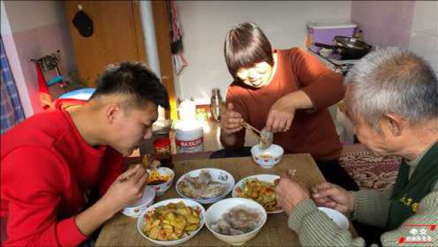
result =
[{"label": "white rim of rear middle bowl around greyish translucent food, food excluded", "polygon": [[[207,170],[209,172],[209,174],[211,175],[211,180],[213,180],[213,182],[227,183],[227,190],[222,195],[216,196],[214,198],[189,198],[185,196],[184,193],[178,189],[178,184],[181,183],[181,181],[185,178],[185,176],[191,176],[191,177],[199,176],[202,170]],[[222,169],[203,168],[203,169],[196,169],[187,172],[186,174],[181,176],[181,178],[179,178],[178,181],[176,182],[176,192],[178,193],[178,195],[182,196],[183,198],[196,200],[196,202],[200,202],[202,204],[211,204],[227,196],[233,190],[234,184],[235,184],[235,180],[233,178],[233,175],[231,175],[229,172],[224,171]]]}]

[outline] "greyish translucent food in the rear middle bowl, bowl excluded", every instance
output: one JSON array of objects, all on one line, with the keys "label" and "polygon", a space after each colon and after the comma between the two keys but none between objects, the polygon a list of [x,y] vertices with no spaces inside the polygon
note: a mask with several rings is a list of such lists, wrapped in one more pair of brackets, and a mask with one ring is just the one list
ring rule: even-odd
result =
[{"label": "greyish translucent food in the rear middle bowl, bowl excluded", "polygon": [[199,176],[185,176],[178,183],[178,190],[188,198],[215,198],[227,191],[227,183],[214,182],[207,170],[201,170]]}]

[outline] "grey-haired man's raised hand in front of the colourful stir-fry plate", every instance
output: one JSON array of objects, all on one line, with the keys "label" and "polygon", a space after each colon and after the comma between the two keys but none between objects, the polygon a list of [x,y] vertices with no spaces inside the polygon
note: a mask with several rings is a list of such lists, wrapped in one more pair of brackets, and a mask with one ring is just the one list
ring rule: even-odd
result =
[{"label": "grey-haired man's raised hand in front of the colourful stir-fry plate", "polygon": [[275,198],[279,207],[290,215],[299,202],[310,198],[310,193],[306,187],[295,180],[295,172],[288,171],[281,174],[275,187]]}]

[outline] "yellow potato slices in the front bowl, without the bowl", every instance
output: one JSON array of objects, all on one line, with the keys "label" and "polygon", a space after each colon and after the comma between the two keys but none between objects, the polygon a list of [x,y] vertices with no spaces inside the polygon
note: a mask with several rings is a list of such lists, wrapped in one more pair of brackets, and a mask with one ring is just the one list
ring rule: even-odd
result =
[{"label": "yellow potato slices in the front bowl, without the bowl", "polygon": [[157,207],[144,215],[143,233],[151,239],[170,241],[187,237],[200,224],[200,211],[184,202]]}]

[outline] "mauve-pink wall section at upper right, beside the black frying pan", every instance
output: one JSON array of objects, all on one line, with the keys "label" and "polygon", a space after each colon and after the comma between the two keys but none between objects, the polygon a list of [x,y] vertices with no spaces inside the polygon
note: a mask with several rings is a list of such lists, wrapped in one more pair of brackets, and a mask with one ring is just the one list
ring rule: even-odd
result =
[{"label": "mauve-pink wall section at upper right, beside the black frying pan", "polygon": [[351,21],[371,45],[408,48],[414,5],[415,1],[352,1]]}]

